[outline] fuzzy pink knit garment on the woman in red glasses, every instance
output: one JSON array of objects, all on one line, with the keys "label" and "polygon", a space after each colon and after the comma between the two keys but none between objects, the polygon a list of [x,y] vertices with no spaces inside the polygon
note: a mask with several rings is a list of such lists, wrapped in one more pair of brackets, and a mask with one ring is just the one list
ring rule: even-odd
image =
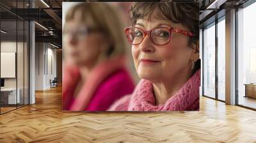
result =
[{"label": "fuzzy pink knit garment on the woman in red glasses", "polygon": [[124,96],[109,111],[171,111],[199,110],[200,70],[182,86],[164,105],[154,105],[152,82],[141,80],[134,93]]}]

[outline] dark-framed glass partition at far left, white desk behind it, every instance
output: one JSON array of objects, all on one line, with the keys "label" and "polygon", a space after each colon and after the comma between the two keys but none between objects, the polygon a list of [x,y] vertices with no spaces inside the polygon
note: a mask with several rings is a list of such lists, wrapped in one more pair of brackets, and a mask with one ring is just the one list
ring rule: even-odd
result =
[{"label": "dark-framed glass partition at far left, white desk behind it", "polygon": [[0,1],[0,114],[29,103],[29,22],[13,14],[28,1]]}]

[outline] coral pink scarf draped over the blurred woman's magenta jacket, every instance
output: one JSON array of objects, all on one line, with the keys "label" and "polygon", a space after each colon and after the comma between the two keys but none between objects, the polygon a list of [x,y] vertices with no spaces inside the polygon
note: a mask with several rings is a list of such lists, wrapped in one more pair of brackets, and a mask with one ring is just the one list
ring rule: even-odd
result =
[{"label": "coral pink scarf draped over the blurred woman's magenta jacket", "polygon": [[[79,91],[76,99],[72,103],[69,110],[81,111],[86,109],[87,105],[90,103],[93,94],[95,93],[97,87],[102,80],[106,79],[108,75],[115,72],[116,70],[125,67],[125,57],[113,57],[106,61],[103,61],[95,68],[93,68],[90,76],[86,79],[81,91]],[[74,88],[76,87],[77,81],[81,78],[79,69],[74,66],[67,66],[65,70],[67,74],[64,74],[63,83],[63,107],[67,107],[68,102],[70,102],[71,96],[73,96]]]}]

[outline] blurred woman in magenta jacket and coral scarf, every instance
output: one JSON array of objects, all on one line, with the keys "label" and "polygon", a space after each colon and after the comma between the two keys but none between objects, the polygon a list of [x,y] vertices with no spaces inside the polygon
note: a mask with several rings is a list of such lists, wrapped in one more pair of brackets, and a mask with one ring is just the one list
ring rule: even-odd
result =
[{"label": "blurred woman in magenta jacket and coral scarf", "polygon": [[132,93],[118,14],[106,3],[80,3],[68,11],[63,28],[63,110],[107,110]]}]

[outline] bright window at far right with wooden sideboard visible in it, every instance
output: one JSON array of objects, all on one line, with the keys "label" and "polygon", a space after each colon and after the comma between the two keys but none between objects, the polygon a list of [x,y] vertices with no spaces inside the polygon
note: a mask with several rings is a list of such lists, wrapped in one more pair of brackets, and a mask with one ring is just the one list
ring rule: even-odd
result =
[{"label": "bright window at far right with wooden sideboard visible in it", "polygon": [[238,105],[256,109],[256,3],[237,11]]}]

